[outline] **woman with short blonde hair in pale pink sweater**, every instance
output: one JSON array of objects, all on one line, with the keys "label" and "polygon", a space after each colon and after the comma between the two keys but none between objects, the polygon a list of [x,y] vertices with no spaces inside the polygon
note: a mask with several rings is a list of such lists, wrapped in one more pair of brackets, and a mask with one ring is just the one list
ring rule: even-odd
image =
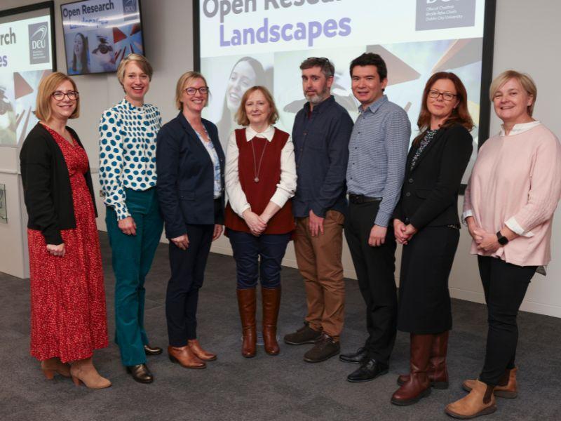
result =
[{"label": "woman with short blonde hair in pale pink sweater", "polygon": [[489,330],[485,364],[470,393],[446,407],[452,417],[496,410],[494,396],[515,398],[516,316],[536,269],[550,261],[551,223],[561,194],[559,140],[532,118],[536,85],[508,70],[490,88],[501,133],[479,150],[464,198],[464,219],[478,255]]}]

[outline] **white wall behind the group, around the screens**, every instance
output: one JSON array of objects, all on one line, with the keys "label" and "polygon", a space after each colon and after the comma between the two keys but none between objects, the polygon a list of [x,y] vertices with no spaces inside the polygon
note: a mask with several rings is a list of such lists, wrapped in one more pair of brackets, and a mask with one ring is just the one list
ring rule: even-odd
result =
[{"label": "white wall behind the group, around the screens", "polygon": [[[65,1],[55,1],[55,27],[57,36],[57,58],[60,71],[65,71],[64,47],[62,41],[62,25],[60,20],[60,4]],[[2,0],[0,9],[35,3],[34,0]],[[151,83],[148,102],[160,107],[164,121],[175,116],[173,96],[175,81],[187,70],[193,67],[193,39],[192,39],[192,1],[191,0],[142,0],[142,14],[144,17],[144,42],[147,57],[154,66],[154,79]],[[543,13],[547,11],[547,13]],[[555,78],[555,71],[559,68],[559,40],[561,39],[561,2],[551,0],[535,0],[532,7],[528,7],[523,0],[497,0],[496,34],[494,48],[494,75],[505,69],[514,68],[532,74],[539,88],[535,115],[543,121],[554,133],[561,134],[561,121],[555,112],[560,88]],[[76,76],[76,82],[81,93],[81,118],[72,121],[72,126],[81,136],[90,156],[90,164],[94,171],[97,169],[97,120],[103,109],[113,105],[122,97],[121,86],[114,74]],[[556,118],[557,117],[557,118]],[[499,121],[492,116],[491,133],[499,130]],[[0,171],[2,170],[0,159]],[[97,177],[95,186],[99,191]],[[4,182],[0,174],[0,182]],[[8,183],[10,184],[10,183]],[[10,188],[15,188],[13,182]],[[18,192],[8,192],[8,199],[16,197]],[[461,204],[460,204],[461,206]],[[100,198],[97,198],[97,208],[100,218],[97,225],[104,227],[104,208]],[[8,210],[9,212],[9,210]],[[553,226],[553,262],[548,267],[548,276],[536,275],[522,309],[541,314],[561,317],[561,227],[557,217]],[[17,236],[20,228],[2,231],[0,235]],[[21,234],[20,234],[21,235]],[[4,241],[0,241],[3,244]],[[13,243],[21,250],[23,241],[14,237]],[[450,288],[452,296],[483,302],[482,288],[475,258],[468,254],[469,236],[466,229],[461,232]],[[346,246],[345,246],[346,247]],[[214,244],[213,251],[231,254],[227,239],[222,237]],[[0,248],[0,271],[10,272],[8,262],[3,258],[7,248]],[[14,253],[18,252],[15,250]],[[400,252],[398,251],[398,257]],[[14,260],[11,260],[12,262]],[[343,257],[345,276],[355,277],[355,272],[345,248]],[[21,266],[22,262],[18,262]],[[295,267],[295,257],[292,245],[289,246],[285,258],[285,265]],[[21,276],[21,275],[17,275]],[[396,274],[398,276],[398,274]]]}]

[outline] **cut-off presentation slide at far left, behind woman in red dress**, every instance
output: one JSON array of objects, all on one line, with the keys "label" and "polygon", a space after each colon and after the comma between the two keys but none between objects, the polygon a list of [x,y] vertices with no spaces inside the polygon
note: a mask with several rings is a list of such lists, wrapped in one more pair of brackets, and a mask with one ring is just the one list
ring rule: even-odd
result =
[{"label": "cut-off presentation slide at far left, behind woman in red dress", "polygon": [[0,146],[17,146],[37,122],[37,87],[54,68],[53,36],[50,8],[0,14]]}]

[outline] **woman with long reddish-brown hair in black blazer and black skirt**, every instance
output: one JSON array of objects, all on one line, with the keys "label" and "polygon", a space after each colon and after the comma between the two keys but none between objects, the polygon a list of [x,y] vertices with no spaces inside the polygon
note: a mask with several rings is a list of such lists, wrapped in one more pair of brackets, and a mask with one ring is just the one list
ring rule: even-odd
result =
[{"label": "woman with long reddish-brown hair in black blazer and black skirt", "polygon": [[458,191],[473,151],[473,121],[458,76],[438,72],[428,79],[417,125],[393,222],[404,245],[398,329],[411,335],[410,374],[398,378],[396,405],[419,401],[431,386],[448,387],[448,276],[460,236]]}]

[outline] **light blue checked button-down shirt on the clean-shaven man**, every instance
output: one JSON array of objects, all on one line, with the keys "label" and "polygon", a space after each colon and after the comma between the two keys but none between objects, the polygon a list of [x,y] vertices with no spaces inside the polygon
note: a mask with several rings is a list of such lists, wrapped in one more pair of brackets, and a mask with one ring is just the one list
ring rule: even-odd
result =
[{"label": "light blue checked button-down shirt on the clean-shaven man", "polygon": [[381,197],[373,222],[387,227],[405,176],[411,123],[407,112],[386,95],[358,112],[349,142],[346,184],[349,193]]}]

